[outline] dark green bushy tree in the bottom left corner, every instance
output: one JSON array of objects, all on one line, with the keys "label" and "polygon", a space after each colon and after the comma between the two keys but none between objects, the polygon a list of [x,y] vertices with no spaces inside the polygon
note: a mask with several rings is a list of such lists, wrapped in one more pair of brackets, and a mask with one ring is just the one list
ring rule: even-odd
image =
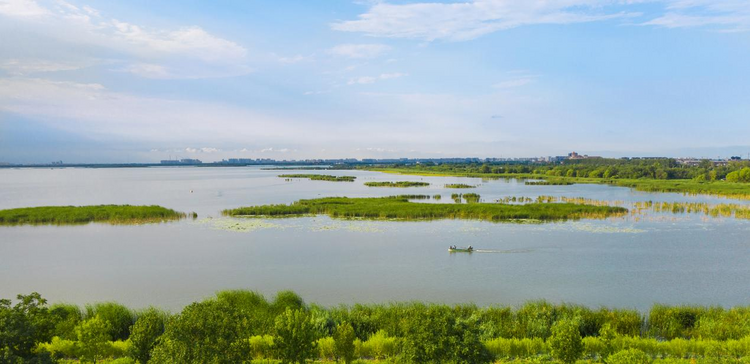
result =
[{"label": "dark green bushy tree in the bottom left corner", "polygon": [[18,302],[0,299],[0,358],[10,361],[37,358],[37,343],[52,339],[54,321],[47,300],[39,293],[18,295]]}]

